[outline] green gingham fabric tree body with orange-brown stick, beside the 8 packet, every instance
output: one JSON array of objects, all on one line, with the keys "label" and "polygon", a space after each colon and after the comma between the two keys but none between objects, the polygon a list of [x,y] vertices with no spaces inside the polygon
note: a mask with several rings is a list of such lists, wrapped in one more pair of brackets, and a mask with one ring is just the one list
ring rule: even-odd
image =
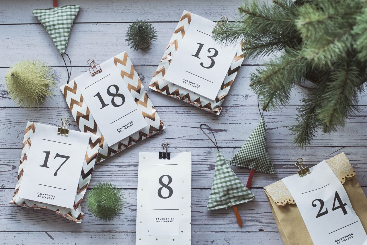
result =
[{"label": "green gingham fabric tree body with orange-brown stick, beside the 8 packet", "polygon": [[251,201],[254,197],[233,172],[222,152],[218,151],[207,209],[228,208]]}]

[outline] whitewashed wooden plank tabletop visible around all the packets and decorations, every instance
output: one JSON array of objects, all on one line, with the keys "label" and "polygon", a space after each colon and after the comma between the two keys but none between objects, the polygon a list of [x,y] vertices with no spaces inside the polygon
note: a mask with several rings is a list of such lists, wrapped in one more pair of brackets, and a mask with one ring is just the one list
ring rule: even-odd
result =
[{"label": "whitewashed wooden plank tabletop visible around all the packets and decorations", "polygon": [[[66,4],[81,5],[66,49],[74,66],[72,77],[87,70],[89,58],[104,61],[127,51],[144,86],[148,87],[183,10],[213,21],[221,15],[233,19],[241,0],[59,1],[59,6]],[[248,84],[250,73],[261,67],[264,60],[268,60],[266,57],[244,61],[219,116],[148,90],[167,129],[96,166],[91,180],[91,186],[98,181],[111,180],[123,189],[127,206],[121,217],[101,222],[84,207],[83,222],[74,224],[46,210],[8,205],[15,187],[26,122],[58,125],[61,116],[72,118],[58,90],[66,82],[63,61],[32,15],[35,8],[51,6],[51,0],[3,0],[0,4],[0,244],[134,244],[138,152],[158,151],[164,141],[171,143],[172,152],[192,151],[192,244],[233,245],[243,241],[246,244],[283,244],[262,187],[294,173],[293,161],[299,156],[312,166],[344,151],[367,192],[367,97],[360,98],[360,112],[350,115],[345,128],[332,134],[320,132],[313,147],[299,149],[291,143],[289,126],[294,122],[299,98],[304,97],[307,90],[295,87],[288,105],[265,113],[268,151],[276,173],[255,174],[252,191],[256,198],[239,206],[243,227],[237,226],[232,209],[206,209],[216,151],[201,133],[199,125],[205,122],[214,129],[227,159],[235,154],[260,119],[257,97]],[[134,52],[124,42],[127,26],[139,19],[152,22],[158,31],[158,40],[148,52]],[[4,76],[15,62],[32,58],[53,66],[58,83],[53,90],[54,96],[42,108],[26,110],[10,100]],[[70,128],[77,129],[76,123],[72,122]],[[234,170],[246,182],[249,170],[236,167]]]}]

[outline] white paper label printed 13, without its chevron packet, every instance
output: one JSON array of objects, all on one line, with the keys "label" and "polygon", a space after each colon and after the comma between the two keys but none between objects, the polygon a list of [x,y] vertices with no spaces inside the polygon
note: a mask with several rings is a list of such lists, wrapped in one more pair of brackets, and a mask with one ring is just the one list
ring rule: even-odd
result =
[{"label": "white paper label printed 13, without its chevron packet", "polygon": [[215,100],[239,48],[218,44],[211,36],[212,22],[193,14],[164,79]]}]

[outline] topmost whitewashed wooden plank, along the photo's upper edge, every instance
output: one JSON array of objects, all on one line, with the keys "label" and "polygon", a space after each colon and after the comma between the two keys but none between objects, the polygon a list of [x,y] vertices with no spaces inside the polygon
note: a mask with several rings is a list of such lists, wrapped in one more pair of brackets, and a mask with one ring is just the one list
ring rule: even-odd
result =
[{"label": "topmost whitewashed wooden plank, along the photo's upper edge", "polygon": [[[268,1],[271,2],[271,1]],[[80,4],[75,23],[134,22],[140,19],[150,22],[178,22],[183,10],[193,12],[212,21],[220,20],[222,15],[230,20],[237,15],[241,0],[186,0],[174,1],[134,1],[134,0],[59,0],[58,6]],[[38,24],[32,10],[52,7],[52,1],[12,0],[1,1],[0,24]]]}]

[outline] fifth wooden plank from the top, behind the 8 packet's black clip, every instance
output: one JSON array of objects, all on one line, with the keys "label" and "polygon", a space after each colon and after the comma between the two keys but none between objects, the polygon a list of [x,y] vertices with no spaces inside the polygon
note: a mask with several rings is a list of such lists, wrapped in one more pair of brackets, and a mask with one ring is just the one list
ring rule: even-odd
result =
[{"label": "fifth wooden plank from the top, behind the 8 packet's black clip", "polygon": [[[230,147],[222,148],[221,151],[229,160],[238,149],[239,147]],[[367,147],[312,147],[302,150],[295,147],[268,147],[276,173],[255,173],[252,188],[262,188],[294,174],[297,170],[297,167],[294,166],[294,160],[299,156],[302,156],[305,165],[313,166],[323,159],[328,159],[341,152],[345,152],[352,163],[360,185],[367,186],[366,149]],[[94,185],[107,179],[113,180],[119,188],[137,188],[139,151],[156,152],[159,150],[159,148],[135,148],[135,146],[126,149],[95,166],[90,183]],[[192,188],[211,188],[217,157],[214,145],[213,148],[171,148],[171,152],[183,151],[191,151],[192,154]],[[15,187],[20,154],[21,149],[0,149],[0,187]],[[250,170],[240,167],[233,167],[233,169],[239,179],[246,183]]]}]

